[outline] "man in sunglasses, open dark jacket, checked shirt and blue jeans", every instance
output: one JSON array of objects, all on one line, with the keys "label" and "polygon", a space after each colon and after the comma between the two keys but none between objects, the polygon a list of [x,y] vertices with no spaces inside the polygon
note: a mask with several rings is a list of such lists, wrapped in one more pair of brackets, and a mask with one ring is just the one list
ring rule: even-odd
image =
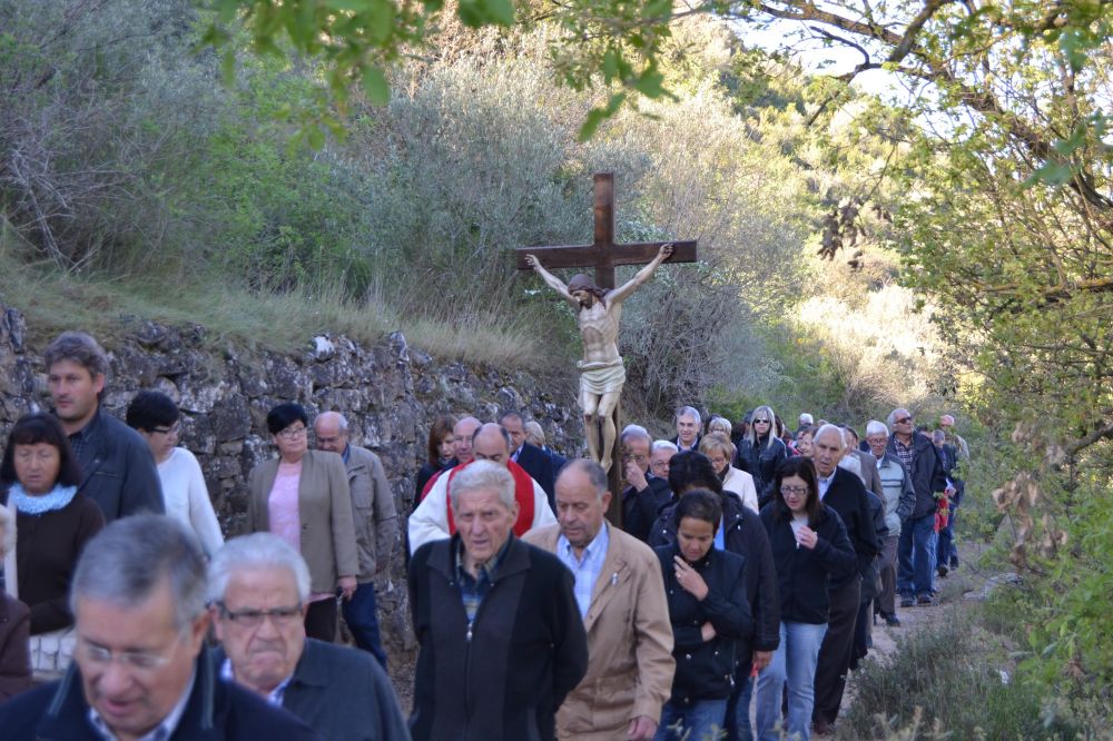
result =
[{"label": "man in sunglasses, open dark jacket, checked shirt and blue jeans", "polygon": [[896,408],[889,413],[887,451],[895,455],[912,478],[916,504],[912,514],[900,523],[900,542],[897,544],[897,592],[900,606],[932,604],[935,576],[935,511],[937,502],[947,490],[947,476],[935,445],[926,435],[916,432],[915,421],[908,409]]}]

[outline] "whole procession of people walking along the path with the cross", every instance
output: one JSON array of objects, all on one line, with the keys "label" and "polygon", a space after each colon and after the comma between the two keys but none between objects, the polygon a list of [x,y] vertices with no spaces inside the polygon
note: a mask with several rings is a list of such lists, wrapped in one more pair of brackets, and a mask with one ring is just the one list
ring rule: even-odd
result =
[{"label": "whole procession of people walking along the path with the cross", "polygon": [[[139,392],[124,424],[92,337],[45,360],[52,408],[17,422],[0,466],[6,739],[808,739],[875,614],[898,626],[958,565],[951,415],[933,441],[894,409],[859,449],[768,405],[706,427],[679,405],[671,441],[612,436],[597,408],[588,457],[522,409],[442,415],[414,470],[386,471],[344,415],[286,402],[234,535],[170,397]],[[391,480],[416,484],[412,508]],[[407,713],[375,599],[400,530]]]}]

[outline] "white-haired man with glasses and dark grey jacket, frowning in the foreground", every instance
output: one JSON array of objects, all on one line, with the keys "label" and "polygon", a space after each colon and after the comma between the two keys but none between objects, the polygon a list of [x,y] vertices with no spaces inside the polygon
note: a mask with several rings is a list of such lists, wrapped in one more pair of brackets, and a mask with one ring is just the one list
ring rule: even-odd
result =
[{"label": "white-haired man with glasses and dark grey jacket, frowning in the foreground", "polygon": [[326,740],[410,738],[374,658],[306,638],[309,571],[288,543],[270,533],[232,539],[208,573],[221,678],[285,708]]}]

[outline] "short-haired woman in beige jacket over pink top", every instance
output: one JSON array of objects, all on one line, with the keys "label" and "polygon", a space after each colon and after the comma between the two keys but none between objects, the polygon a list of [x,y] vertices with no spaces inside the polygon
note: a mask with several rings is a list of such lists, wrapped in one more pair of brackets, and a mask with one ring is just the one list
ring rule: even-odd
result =
[{"label": "short-haired woman in beige jacket over pink top", "polygon": [[336,594],[351,600],[359,571],[344,460],[311,451],[309,418],[301,404],[267,413],[278,457],[255,466],[248,478],[247,527],[283,539],[309,566],[305,634],[327,643],[336,638]]}]

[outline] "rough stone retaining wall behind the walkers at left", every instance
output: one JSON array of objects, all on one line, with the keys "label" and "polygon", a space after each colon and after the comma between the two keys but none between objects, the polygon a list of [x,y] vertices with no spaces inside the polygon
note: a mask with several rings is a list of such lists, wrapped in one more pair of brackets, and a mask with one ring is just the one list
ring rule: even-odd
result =
[{"label": "rough stone retaining wall behind the walkers at left", "polygon": [[[49,407],[41,350],[52,337],[36,335],[17,309],[2,303],[0,313],[0,433],[6,439],[32,405]],[[201,463],[226,535],[243,532],[248,472],[276,454],[265,419],[279,402],[305,405],[311,419],[326,409],[347,416],[352,441],[382,457],[403,517],[412,508],[414,474],[437,414],[492,421],[513,409],[540,422],[550,444],[562,452],[575,453],[582,439],[572,374],[536,378],[443,363],[410,347],[401,333],[370,347],[318,336],[307,338],[305,352],[278,354],[213,349],[215,343],[199,326],[134,320],[128,327],[122,342],[106,343],[112,373],[105,406],[122,418],[141,388],[162,391],[178,403],[181,445]],[[381,585],[381,615],[387,651],[407,662],[414,644],[401,543],[395,553]]]}]

